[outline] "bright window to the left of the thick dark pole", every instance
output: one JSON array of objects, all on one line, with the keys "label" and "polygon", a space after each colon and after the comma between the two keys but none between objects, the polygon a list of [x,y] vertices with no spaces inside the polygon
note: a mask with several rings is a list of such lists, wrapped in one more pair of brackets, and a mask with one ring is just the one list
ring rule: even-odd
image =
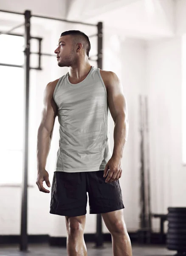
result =
[{"label": "bright window to the left of the thick dark pole", "polygon": [[[23,37],[0,35],[0,63],[23,64]],[[0,66],[0,184],[22,182],[24,70]]]}]

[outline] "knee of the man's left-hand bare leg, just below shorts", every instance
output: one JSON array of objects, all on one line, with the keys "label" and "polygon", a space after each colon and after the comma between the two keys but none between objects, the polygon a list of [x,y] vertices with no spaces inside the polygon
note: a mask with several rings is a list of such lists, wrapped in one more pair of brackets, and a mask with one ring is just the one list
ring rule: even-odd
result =
[{"label": "knee of the man's left-hand bare leg, just below shorts", "polygon": [[66,227],[68,235],[78,236],[80,233],[84,232],[85,217],[81,217],[66,217]]}]

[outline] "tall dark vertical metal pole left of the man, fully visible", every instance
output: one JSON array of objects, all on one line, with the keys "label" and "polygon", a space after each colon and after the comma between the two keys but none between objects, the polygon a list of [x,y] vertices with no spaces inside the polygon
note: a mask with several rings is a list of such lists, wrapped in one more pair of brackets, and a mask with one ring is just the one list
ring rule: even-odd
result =
[{"label": "tall dark vertical metal pole left of the man, fully visible", "polygon": [[22,182],[22,207],[21,207],[21,237],[20,250],[27,251],[27,188],[28,188],[28,107],[29,107],[29,72],[30,72],[30,18],[31,12],[25,11],[25,131],[24,131],[24,154],[23,154],[23,182]]}]

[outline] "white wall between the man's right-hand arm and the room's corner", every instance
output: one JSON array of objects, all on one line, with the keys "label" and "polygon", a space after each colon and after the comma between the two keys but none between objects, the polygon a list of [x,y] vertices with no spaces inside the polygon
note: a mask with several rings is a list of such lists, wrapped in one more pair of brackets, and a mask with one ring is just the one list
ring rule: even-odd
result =
[{"label": "white wall between the man's right-hand arm and the room's corner", "polygon": [[[121,79],[124,96],[127,99],[129,115],[129,136],[122,159],[123,174],[120,179],[124,201],[124,216],[128,231],[139,227],[139,132],[138,132],[138,96],[146,90],[146,45],[144,41],[127,39],[119,42],[111,35],[105,69],[113,70]],[[117,49],[117,50],[116,50]],[[110,51],[109,51],[110,50]],[[106,54],[106,53],[105,53]],[[106,56],[105,56],[106,57]],[[113,148],[113,120],[110,120],[110,141]]]}]

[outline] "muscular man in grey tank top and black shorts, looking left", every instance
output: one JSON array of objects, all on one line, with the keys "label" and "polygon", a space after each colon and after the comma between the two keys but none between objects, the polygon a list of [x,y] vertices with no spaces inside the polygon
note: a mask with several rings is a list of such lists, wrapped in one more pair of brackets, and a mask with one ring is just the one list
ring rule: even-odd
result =
[{"label": "muscular man in grey tank top and black shorts, looking left", "polygon": [[[45,89],[37,186],[49,193],[43,181],[51,186],[45,166],[58,116],[60,140],[50,213],[65,216],[68,255],[87,256],[83,235],[88,192],[90,213],[101,213],[112,235],[113,255],[132,256],[119,185],[128,136],[127,103],[116,74],[91,66],[89,52],[90,41],[83,32],[66,31],[59,38],[58,66],[69,67],[69,72]],[[110,113],[115,122],[113,154],[108,142]]]}]

